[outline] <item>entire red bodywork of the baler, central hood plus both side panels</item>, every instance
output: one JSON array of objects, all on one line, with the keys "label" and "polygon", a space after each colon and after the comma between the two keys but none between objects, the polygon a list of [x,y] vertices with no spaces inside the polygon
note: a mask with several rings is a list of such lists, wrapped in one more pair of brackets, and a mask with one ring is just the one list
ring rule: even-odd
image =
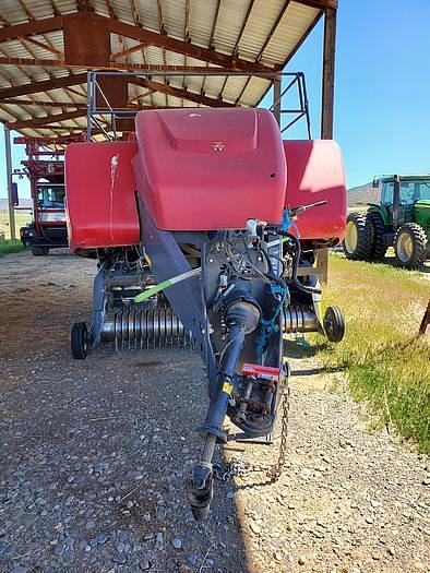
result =
[{"label": "entire red bodywork of the baler, central hood plus both side panels", "polygon": [[143,111],[135,140],[69,145],[65,184],[72,252],[138,244],[136,194],[163,230],[279,224],[284,208],[321,200],[300,215],[301,239],[342,239],[346,220],[337,144],[283,142],[264,109]]}]

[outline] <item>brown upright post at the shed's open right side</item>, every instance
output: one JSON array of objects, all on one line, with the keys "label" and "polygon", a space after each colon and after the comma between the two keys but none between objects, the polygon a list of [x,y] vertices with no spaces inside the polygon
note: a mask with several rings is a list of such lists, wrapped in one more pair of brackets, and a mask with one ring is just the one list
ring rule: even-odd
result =
[{"label": "brown upright post at the shed's open right side", "polygon": [[321,106],[321,138],[333,138],[334,119],[334,71],[336,51],[336,11],[325,10],[324,17],[324,55]]}]

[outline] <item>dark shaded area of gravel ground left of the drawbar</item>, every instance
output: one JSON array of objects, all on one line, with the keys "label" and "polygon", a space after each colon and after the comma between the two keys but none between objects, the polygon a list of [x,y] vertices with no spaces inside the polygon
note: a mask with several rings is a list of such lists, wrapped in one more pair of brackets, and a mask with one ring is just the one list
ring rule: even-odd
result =
[{"label": "dark shaded area of gravel ground left of the drawbar", "polygon": [[250,571],[234,486],[216,485],[204,523],[186,501],[206,405],[200,359],[71,358],[94,271],[61,251],[1,265],[0,570]]}]

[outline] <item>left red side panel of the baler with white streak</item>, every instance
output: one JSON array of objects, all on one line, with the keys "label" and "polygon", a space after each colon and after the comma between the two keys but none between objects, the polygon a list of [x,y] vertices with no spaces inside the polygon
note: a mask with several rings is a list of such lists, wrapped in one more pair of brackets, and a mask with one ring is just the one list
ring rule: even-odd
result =
[{"label": "left red side panel of the baler with white streak", "polygon": [[135,142],[74,143],[65,151],[67,222],[72,252],[139,243]]}]

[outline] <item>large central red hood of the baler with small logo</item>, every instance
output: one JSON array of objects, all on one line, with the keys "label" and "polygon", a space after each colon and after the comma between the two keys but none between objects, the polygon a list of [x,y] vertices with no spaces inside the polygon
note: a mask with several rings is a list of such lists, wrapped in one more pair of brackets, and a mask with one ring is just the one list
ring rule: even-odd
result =
[{"label": "large central red hood of the baler with small logo", "polygon": [[136,116],[139,193],[164,230],[280,223],[286,163],[266,109],[178,109]]}]

